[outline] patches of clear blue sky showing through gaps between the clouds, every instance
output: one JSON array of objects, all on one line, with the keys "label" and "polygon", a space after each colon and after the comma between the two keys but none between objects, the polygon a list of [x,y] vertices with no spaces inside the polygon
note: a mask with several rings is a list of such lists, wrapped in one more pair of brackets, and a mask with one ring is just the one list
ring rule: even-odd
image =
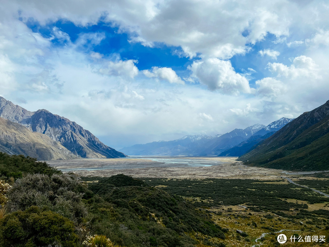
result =
[{"label": "patches of clear blue sky showing through gaps between the clouds", "polygon": [[[93,45],[92,47],[88,44],[83,45],[82,47],[79,47],[80,52],[89,53],[90,51],[94,51],[108,57],[111,57],[112,54],[118,54],[122,60],[138,60],[136,67],[139,70],[151,69],[154,66],[170,67],[180,77],[187,77],[188,73],[186,70],[188,66],[190,66],[193,61],[201,59],[198,56],[193,58],[182,56],[180,53],[182,53],[183,50],[180,46],[170,46],[166,45],[164,42],[155,42],[153,47],[144,46],[139,42],[129,42],[131,37],[136,34],[129,32],[122,33],[119,31],[119,28],[113,26],[112,23],[106,23],[101,20],[91,26],[77,26],[66,19],[60,19],[56,22],[49,22],[46,25],[40,25],[38,21],[30,18],[25,21],[25,24],[34,33],[41,34],[46,39],[52,37],[52,30],[54,27],[58,28],[66,33],[73,43],[81,34],[104,34],[105,38],[99,44]],[[270,72],[266,69],[269,59],[266,56],[261,56],[259,54],[260,50],[272,49],[284,53],[285,57],[281,56],[277,58],[277,61],[279,62],[284,62],[284,60],[288,60],[290,56],[295,54],[296,47],[282,47],[281,44],[274,43],[276,40],[277,38],[274,35],[268,33],[264,40],[257,41],[255,44],[247,44],[250,51],[246,54],[237,54],[231,57],[230,61],[236,72],[243,74],[245,71],[248,71],[248,68],[257,71],[257,73],[254,73],[250,78],[250,85],[254,85],[256,80],[270,75]],[[65,47],[67,45],[67,41],[59,40],[57,38],[52,39],[51,42],[54,47]]]}]

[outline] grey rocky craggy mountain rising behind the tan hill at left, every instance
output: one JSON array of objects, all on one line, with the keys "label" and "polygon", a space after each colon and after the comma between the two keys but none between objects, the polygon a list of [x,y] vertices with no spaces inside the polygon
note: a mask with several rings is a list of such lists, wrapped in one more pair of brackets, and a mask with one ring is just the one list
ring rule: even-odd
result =
[{"label": "grey rocky craggy mountain rising behind the tan hill at left", "polygon": [[49,136],[60,142],[73,154],[83,158],[126,157],[122,152],[110,148],[88,130],[67,118],[54,115],[47,110],[30,112],[11,101],[0,97],[0,117],[22,124],[34,132]]}]

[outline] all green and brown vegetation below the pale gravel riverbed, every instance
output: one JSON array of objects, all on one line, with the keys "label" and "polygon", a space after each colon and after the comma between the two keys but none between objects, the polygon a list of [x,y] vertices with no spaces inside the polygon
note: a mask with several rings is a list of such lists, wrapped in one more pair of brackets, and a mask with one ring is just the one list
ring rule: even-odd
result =
[{"label": "all green and brown vegetation below the pale gravel riverbed", "polygon": [[281,229],[329,233],[328,198],[282,180],[80,178],[0,157],[0,246],[275,246]]}]

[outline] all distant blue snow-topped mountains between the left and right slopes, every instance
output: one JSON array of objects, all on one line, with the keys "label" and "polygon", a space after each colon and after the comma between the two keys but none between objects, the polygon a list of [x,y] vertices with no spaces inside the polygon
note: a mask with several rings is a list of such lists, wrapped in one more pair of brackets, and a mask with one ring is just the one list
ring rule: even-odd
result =
[{"label": "all distant blue snow-topped mountains between the left and right slopes", "polygon": [[267,126],[254,124],[215,136],[187,135],[178,140],[137,144],[119,151],[128,155],[240,156],[291,121],[292,119],[281,118]]}]

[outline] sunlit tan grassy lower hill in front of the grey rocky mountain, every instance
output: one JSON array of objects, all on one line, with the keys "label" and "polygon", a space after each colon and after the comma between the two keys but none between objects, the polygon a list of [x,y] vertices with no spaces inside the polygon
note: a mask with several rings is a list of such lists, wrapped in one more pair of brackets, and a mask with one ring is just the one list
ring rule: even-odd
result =
[{"label": "sunlit tan grassy lower hill in front of the grey rocky mountain", "polygon": [[38,160],[74,159],[75,155],[50,137],[0,117],[0,151]]}]

